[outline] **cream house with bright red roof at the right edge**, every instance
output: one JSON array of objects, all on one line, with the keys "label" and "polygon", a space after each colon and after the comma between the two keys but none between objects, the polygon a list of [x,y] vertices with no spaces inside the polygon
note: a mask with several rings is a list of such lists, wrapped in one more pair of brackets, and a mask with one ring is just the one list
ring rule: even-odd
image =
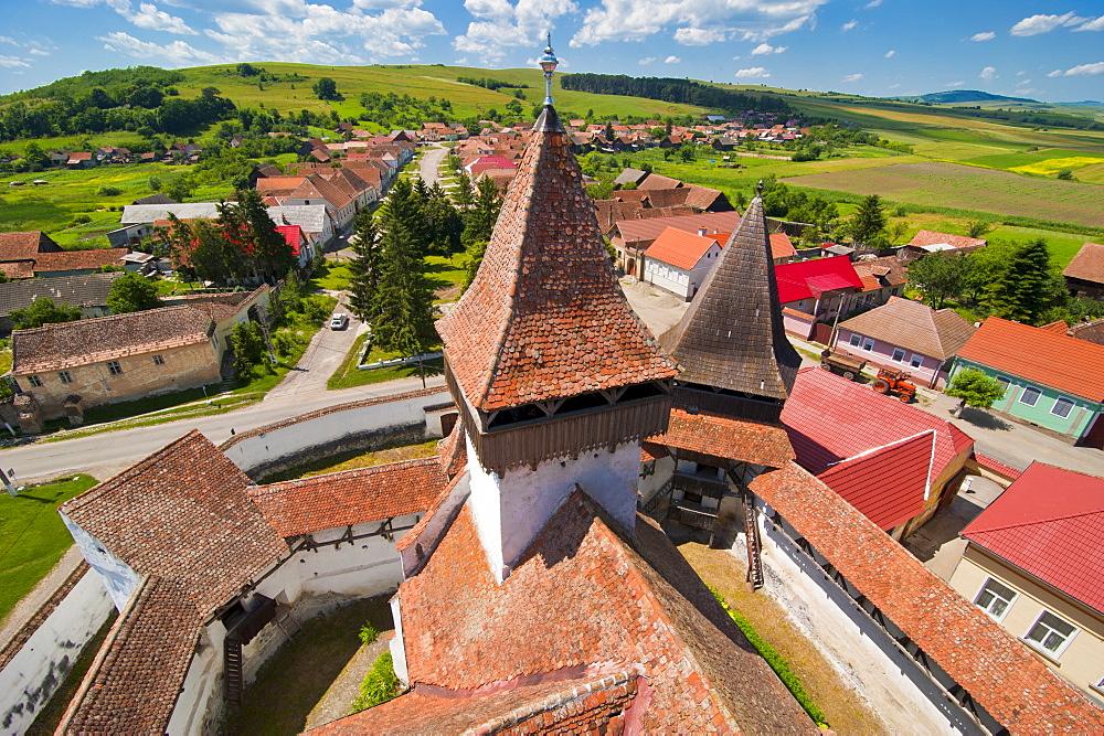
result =
[{"label": "cream house with bright red roof at the right edge", "polygon": [[1104,479],[1032,462],[966,529],[951,586],[1104,703]]}]

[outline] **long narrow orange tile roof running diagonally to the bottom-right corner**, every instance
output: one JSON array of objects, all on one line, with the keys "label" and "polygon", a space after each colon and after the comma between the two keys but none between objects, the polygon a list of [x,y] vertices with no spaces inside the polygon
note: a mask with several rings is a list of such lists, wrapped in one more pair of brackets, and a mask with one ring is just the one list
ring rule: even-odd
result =
[{"label": "long narrow orange tile roof running diagonally to the bottom-right corner", "polygon": [[1011,733],[1101,733],[1104,711],[805,470],[752,491]]}]

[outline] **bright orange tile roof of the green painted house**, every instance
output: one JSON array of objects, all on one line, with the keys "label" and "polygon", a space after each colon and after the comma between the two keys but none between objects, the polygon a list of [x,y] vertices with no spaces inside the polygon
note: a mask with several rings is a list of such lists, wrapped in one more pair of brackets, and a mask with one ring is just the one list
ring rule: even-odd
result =
[{"label": "bright orange tile roof of the green painted house", "polygon": [[1104,345],[990,317],[958,358],[1094,402],[1104,402]]}]

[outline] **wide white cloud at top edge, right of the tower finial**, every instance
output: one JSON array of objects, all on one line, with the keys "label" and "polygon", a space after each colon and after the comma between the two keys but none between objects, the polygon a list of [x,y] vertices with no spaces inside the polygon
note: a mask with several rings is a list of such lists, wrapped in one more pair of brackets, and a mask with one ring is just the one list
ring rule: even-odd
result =
[{"label": "wide white cloud at top edge, right of the tower finial", "polygon": [[571,45],[644,41],[671,33],[679,43],[700,45],[728,39],[765,41],[811,25],[828,0],[599,0],[586,10]]}]

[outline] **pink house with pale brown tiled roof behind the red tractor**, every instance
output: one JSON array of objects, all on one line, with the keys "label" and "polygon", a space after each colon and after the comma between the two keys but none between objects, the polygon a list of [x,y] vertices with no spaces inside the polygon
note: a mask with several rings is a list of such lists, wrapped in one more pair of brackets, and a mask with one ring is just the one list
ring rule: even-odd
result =
[{"label": "pink house with pale brown tiled roof behind the red tractor", "polygon": [[880,367],[904,370],[917,385],[946,385],[952,359],[977,328],[953,309],[900,297],[840,322],[832,346]]}]

